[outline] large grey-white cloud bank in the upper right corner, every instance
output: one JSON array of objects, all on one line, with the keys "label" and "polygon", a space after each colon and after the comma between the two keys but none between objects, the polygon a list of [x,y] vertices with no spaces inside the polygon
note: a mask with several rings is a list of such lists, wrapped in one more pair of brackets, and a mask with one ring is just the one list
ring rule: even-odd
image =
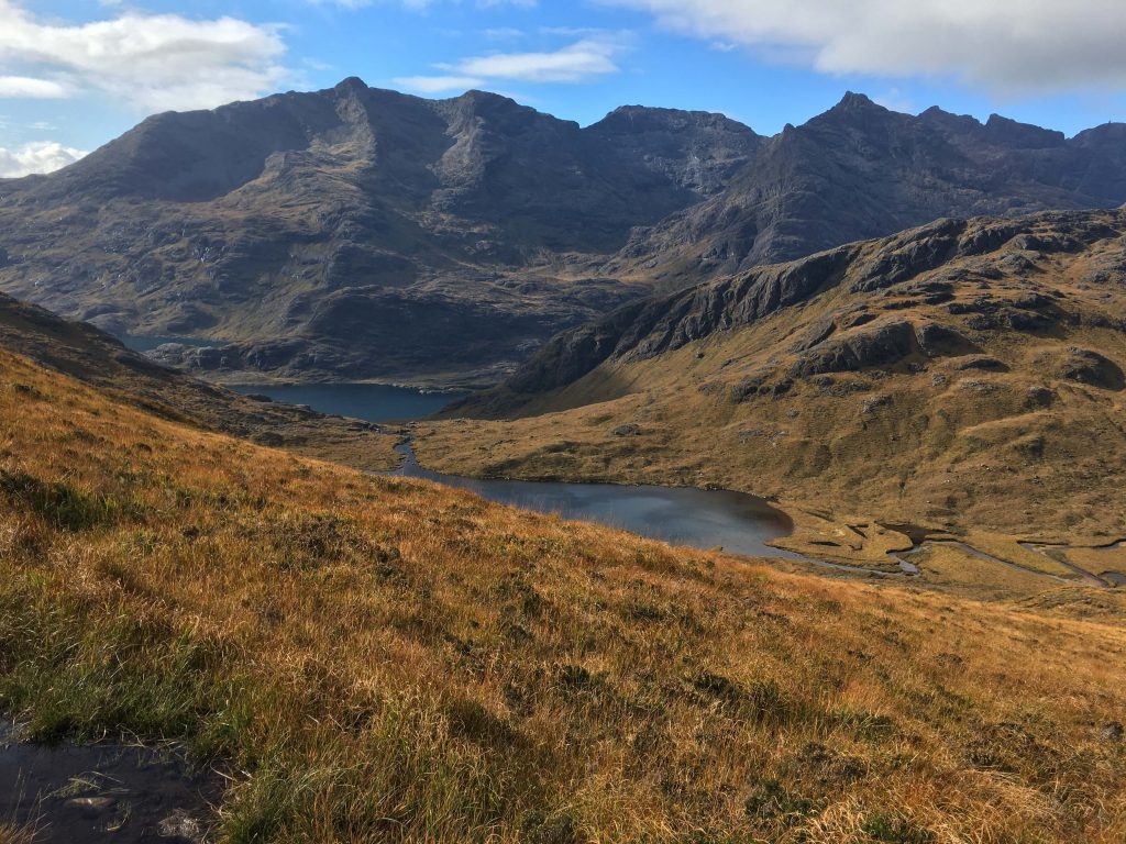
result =
[{"label": "large grey-white cloud bank in the upper right corner", "polygon": [[1126,84],[1123,0],[602,0],[829,73],[953,75],[1008,93]]}]

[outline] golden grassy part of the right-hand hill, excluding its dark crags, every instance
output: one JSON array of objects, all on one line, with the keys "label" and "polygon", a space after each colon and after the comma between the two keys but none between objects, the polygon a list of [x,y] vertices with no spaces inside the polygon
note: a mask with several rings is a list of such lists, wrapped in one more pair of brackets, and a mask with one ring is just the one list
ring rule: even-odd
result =
[{"label": "golden grassy part of the right-hand hill, excluding its dark crags", "polygon": [[[1083,249],[1040,252],[1015,239],[876,293],[850,289],[887,242],[865,244],[852,275],[801,306],[656,358],[610,360],[563,389],[524,396],[515,419],[420,424],[420,459],[457,474],[753,492],[804,511],[810,537],[837,542],[821,553],[841,557],[855,556],[844,526],[870,520],[1117,539],[1126,536],[1126,392],[1063,374],[1074,348],[1126,368],[1126,333],[1114,327],[1126,324],[1116,280],[1124,240],[1114,234],[1126,219],[1090,219],[1110,233]],[[1051,242],[1057,225],[1046,215],[1029,227]],[[949,287],[949,300],[928,304],[931,284]],[[1047,303],[1034,313],[1046,327],[982,327],[983,311],[1036,297]],[[849,329],[859,315],[872,321]],[[808,344],[829,321],[837,327],[826,343],[903,321],[940,323],[968,342],[930,358],[917,351],[859,371],[793,377],[781,395],[733,397],[748,380],[766,389],[784,380],[824,348]],[[992,368],[975,368],[984,358]],[[615,437],[624,423],[637,434]],[[1007,553],[1019,549],[1010,542]]]}]

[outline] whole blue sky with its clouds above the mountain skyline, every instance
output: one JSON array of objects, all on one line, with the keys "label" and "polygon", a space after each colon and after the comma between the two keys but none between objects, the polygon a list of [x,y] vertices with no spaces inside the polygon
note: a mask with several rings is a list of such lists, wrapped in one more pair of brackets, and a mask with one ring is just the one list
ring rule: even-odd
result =
[{"label": "whole blue sky with its clouds above the mountain skyline", "polygon": [[855,90],[1074,134],[1126,119],[1124,34],[1123,0],[0,0],[0,176],[349,75],[582,124],[642,104],[772,134]]}]

